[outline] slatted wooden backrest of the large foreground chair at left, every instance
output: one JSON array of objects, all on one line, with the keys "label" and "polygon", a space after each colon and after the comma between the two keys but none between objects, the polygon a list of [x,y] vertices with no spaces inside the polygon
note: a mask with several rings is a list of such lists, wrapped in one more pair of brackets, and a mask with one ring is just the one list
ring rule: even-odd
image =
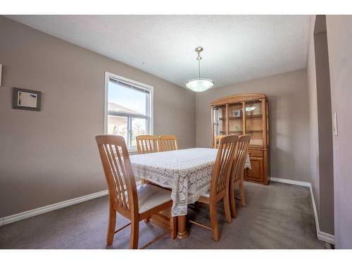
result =
[{"label": "slatted wooden backrest of the large foreground chair at left", "polygon": [[95,139],[113,205],[138,213],[137,187],[125,139],[115,135],[100,135]]}]

